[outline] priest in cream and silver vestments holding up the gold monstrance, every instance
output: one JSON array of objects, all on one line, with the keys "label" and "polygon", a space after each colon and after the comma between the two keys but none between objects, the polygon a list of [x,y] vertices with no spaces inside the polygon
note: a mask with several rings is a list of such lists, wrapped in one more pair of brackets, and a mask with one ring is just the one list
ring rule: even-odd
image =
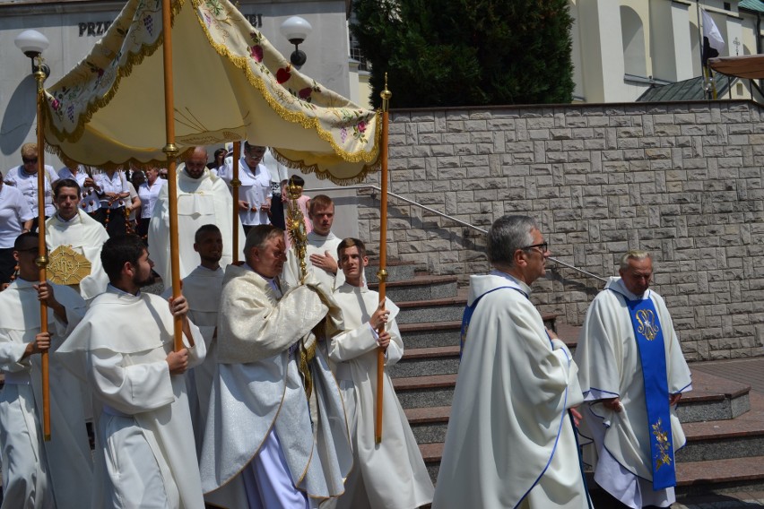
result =
[{"label": "priest in cream and silver vestments holding up the gold monstrance", "polygon": [[341,325],[339,310],[316,280],[282,295],[284,250],[282,229],[258,225],[247,263],[226,269],[200,463],[213,505],[317,507],[352,467],[342,396],[311,332],[328,329],[327,313]]}]

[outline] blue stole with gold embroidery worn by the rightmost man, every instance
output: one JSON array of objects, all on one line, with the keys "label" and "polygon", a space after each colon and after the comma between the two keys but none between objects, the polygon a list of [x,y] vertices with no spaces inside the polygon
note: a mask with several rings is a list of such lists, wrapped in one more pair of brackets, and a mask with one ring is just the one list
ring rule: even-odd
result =
[{"label": "blue stole with gold embroidery worn by the rightmost man", "polygon": [[637,336],[639,360],[642,364],[647,423],[650,427],[653,489],[657,491],[676,486],[664,334],[651,298],[629,300],[624,297],[624,300]]}]

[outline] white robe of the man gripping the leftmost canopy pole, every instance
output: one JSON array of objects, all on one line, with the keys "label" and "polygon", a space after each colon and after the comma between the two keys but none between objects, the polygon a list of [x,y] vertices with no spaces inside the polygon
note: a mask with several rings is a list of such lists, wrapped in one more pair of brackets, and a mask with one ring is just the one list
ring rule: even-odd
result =
[{"label": "white robe of the man gripping the leftmost canopy pole", "polygon": [[[50,367],[50,440],[43,441],[40,356],[22,359],[27,343],[40,332],[37,290],[14,280],[0,292],[0,444],[3,464],[3,509],[90,507],[92,461],[85,430],[82,389],[78,380],[48,354]],[[73,289],[54,285],[56,300],[66,309],[64,324],[48,308],[48,331],[55,350],[85,313]]]}]

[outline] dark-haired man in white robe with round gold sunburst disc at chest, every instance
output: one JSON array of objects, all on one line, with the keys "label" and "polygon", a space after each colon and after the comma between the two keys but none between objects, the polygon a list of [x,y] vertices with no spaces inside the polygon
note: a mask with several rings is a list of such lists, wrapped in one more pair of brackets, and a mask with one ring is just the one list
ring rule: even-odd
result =
[{"label": "dark-haired man in white robe with round gold sunburst disc at chest", "polygon": [[[90,300],[106,290],[109,278],[100,263],[100,248],[109,238],[103,225],[80,207],[80,185],[74,179],[63,178],[53,188],[56,213],[45,221],[45,243],[49,252],[57,247],[58,257],[51,258],[48,271],[62,284],[71,285],[82,298]],[[73,253],[74,252],[74,253]],[[80,256],[77,256],[80,255]],[[90,273],[82,280],[75,274],[84,260],[90,263]],[[73,262],[76,260],[76,263]]]}]

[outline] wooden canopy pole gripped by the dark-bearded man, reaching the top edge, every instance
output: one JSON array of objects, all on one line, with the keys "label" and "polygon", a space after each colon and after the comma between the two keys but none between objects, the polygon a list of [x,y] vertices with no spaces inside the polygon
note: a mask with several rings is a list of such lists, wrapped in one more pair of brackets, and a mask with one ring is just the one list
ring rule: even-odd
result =
[{"label": "wooden canopy pole gripped by the dark-bearded man, reaching the top edge", "polygon": [[[175,144],[175,96],[172,82],[172,22],[170,0],[161,2],[162,59],[164,62],[164,122],[167,144],[161,151],[167,156],[169,200],[169,269],[172,278],[172,298],[180,296],[180,262],[178,260],[178,176],[176,163],[178,147]],[[174,349],[183,349],[183,322],[174,318]]]}]

